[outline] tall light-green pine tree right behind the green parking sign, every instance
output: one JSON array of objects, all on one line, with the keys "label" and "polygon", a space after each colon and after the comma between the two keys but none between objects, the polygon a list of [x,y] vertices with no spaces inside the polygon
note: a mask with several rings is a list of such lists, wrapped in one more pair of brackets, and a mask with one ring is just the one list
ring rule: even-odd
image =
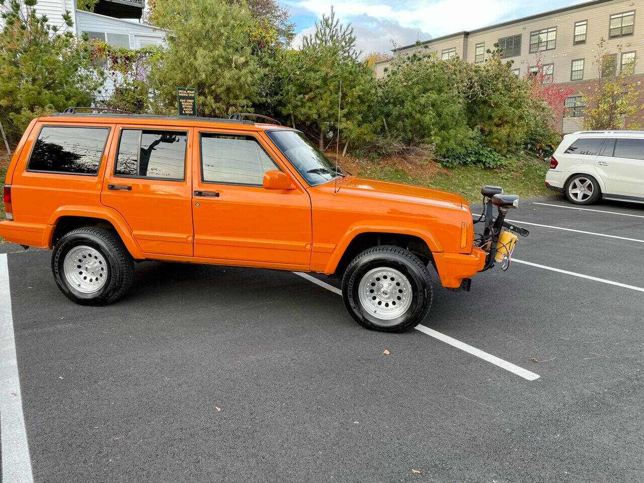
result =
[{"label": "tall light-green pine tree right behind the green parking sign", "polygon": [[222,0],[158,0],[158,26],[167,29],[167,49],[151,72],[166,108],[176,111],[176,88],[194,87],[197,113],[227,117],[259,102],[263,69],[252,55],[255,23],[243,3]]}]

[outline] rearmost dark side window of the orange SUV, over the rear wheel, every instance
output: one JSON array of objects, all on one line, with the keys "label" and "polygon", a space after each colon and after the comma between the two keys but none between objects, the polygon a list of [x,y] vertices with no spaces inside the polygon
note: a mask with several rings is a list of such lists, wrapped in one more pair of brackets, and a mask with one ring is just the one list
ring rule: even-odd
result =
[{"label": "rearmost dark side window of the orange SUV, over the rear wheel", "polygon": [[38,134],[27,171],[97,175],[109,128],[45,126]]}]

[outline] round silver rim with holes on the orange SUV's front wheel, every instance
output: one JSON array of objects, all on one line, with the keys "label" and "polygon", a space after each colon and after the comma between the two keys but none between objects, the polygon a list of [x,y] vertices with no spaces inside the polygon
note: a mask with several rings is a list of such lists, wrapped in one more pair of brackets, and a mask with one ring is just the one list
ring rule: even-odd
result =
[{"label": "round silver rim with holes on the orange SUV's front wheel", "polygon": [[412,305],[412,284],[398,270],[389,267],[369,270],[358,287],[363,310],[379,319],[400,317]]}]

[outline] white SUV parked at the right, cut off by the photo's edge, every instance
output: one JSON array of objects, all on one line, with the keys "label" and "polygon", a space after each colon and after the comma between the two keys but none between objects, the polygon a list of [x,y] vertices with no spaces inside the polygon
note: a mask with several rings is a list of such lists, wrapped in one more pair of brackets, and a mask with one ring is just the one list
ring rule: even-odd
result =
[{"label": "white SUV parked at the right, cut off by the photo's edge", "polygon": [[644,131],[578,131],[554,151],[545,185],[576,205],[644,203]]}]

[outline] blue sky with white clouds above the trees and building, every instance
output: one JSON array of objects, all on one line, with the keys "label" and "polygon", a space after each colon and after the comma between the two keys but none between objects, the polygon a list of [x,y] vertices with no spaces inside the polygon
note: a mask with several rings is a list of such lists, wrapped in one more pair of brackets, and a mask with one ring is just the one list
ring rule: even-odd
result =
[{"label": "blue sky with white clouds above the trees and building", "polygon": [[279,0],[287,6],[301,38],[315,30],[315,23],[331,6],[340,21],[351,23],[357,47],[363,54],[391,53],[392,46],[405,46],[448,33],[539,14],[585,0]]}]

